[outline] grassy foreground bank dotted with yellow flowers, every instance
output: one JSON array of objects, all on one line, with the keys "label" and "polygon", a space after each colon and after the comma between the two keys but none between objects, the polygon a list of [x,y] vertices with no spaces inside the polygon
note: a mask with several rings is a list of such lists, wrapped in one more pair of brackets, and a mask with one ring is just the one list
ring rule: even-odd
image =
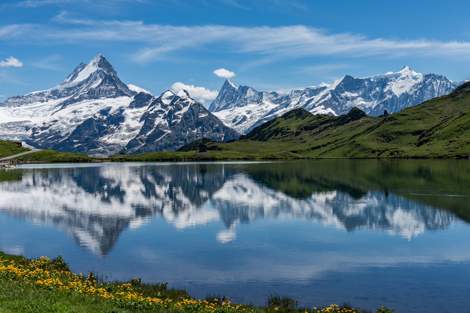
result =
[{"label": "grassy foreground bank dotted with yellow flowers", "polygon": [[[266,305],[232,304],[220,296],[191,299],[186,290],[167,289],[166,283],[96,282],[72,274],[61,256],[49,260],[25,259],[0,251],[1,313],[349,313],[370,312],[349,304],[326,308],[303,307],[295,298],[271,295]],[[391,313],[384,307],[379,313]]]}]

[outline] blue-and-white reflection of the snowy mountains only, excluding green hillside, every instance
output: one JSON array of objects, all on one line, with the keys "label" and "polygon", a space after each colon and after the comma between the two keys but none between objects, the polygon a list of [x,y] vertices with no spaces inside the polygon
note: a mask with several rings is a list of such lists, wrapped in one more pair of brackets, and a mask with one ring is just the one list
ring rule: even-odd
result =
[{"label": "blue-and-white reflection of the snowy mountains only, excluding green hillside", "polygon": [[139,229],[155,214],[177,229],[222,220],[221,243],[235,240],[238,223],[260,218],[320,221],[345,231],[375,229],[408,240],[454,222],[445,210],[389,192],[359,191],[358,200],[357,190],[338,188],[294,197],[253,175],[250,166],[17,168],[21,180],[0,182],[0,207],[14,217],[59,225],[96,255],[108,254],[124,229]]}]

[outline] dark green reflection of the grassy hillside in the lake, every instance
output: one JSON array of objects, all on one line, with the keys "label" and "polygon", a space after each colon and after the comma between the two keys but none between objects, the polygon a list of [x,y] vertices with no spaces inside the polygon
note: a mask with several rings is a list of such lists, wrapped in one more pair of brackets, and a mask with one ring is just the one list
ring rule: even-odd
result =
[{"label": "dark green reflection of the grassy hillside in the lake", "polygon": [[253,163],[248,173],[256,181],[295,198],[307,198],[317,191],[342,191],[357,199],[369,190],[380,190],[451,210],[470,221],[470,197],[431,196],[470,196],[470,160],[286,161]]}]

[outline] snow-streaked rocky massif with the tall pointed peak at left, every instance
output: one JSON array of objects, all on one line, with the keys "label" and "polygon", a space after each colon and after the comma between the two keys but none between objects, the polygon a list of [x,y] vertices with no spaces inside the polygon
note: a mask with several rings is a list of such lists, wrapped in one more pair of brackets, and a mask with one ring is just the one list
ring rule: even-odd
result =
[{"label": "snow-streaked rocky massif with the tall pointed peak at left", "polygon": [[200,137],[227,141],[239,135],[184,90],[137,94],[101,54],[80,63],[57,87],[0,104],[0,138],[97,157],[176,150]]}]

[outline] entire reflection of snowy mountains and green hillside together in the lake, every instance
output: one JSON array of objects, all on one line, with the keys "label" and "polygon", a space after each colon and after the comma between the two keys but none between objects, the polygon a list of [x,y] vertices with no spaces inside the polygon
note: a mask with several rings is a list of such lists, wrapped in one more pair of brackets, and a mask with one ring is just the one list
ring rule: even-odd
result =
[{"label": "entire reflection of snowy mountains and green hillside together in the lake", "polygon": [[[220,243],[236,238],[237,224],[267,217],[412,240],[456,216],[468,221],[468,162],[451,161],[22,165],[1,176],[0,210],[58,225],[100,256],[156,214],[177,229],[221,220]],[[427,196],[443,185],[463,197]]]}]

